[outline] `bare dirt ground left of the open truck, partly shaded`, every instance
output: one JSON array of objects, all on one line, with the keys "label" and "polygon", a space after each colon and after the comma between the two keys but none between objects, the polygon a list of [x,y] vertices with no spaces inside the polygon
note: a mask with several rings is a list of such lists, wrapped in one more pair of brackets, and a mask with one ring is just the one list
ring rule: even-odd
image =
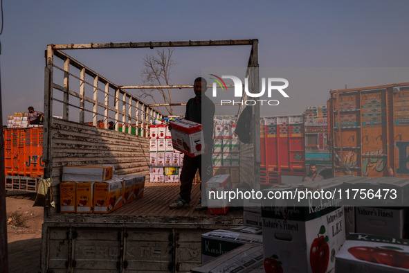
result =
[{"label": "bare dirt ground left of the open truck, partly shaded", "polygon": [[8,193],[6,197],[7,215],[18,212],[27,227],[16,227],[8,218],[8,267],[9,272],[40,272],[40,247],[43,223],[43,208],[33,206],[35,194]]}]

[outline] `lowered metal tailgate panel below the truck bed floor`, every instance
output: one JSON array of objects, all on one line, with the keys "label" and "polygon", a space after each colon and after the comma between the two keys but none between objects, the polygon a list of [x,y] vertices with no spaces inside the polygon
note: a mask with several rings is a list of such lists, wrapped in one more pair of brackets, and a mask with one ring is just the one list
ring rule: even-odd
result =
[{"label": "lowered metal tailgate panel below the truck bed floor", "polygon": [[188,272],[201,265],[201,234],[212,229],[55,227],[48,238],[46,268],[53,272]]}]

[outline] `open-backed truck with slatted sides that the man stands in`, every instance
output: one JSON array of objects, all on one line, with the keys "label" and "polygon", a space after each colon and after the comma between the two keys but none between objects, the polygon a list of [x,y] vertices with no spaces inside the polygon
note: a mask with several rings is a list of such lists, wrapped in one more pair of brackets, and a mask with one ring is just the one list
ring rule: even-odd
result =
[{"label": "open-backed truck with slatted sides that the man stands in", "polygon": [[[201,264],[201,234],[242,224],[242,211],[208,215],[193,208],[170,211],[178,184],[145,182],[145,194],[108,214],[61,213],[62,168],[110,164],[118,175],[148,175],[148,128],[163,115],[66,51],[186,46],[248,46],[251,88],[258,89],[257,39],[107,44],[49,44],[44,78],[44,178],[50,179],[55,206],[44,208],[42,272],[188,272]],[[192,88],[172,85],[170,88]],[[62,118],[54,118],[60,109]],[[244,107],[239,107],[237,116]],[[91,115],[93,126],[84,125]],[[98,127],[98,121],[104,127]],[[240,182],[260,189],[260,107],[251,107],[251,143],[240,143]],[[114,130],[108,130],[113,121]],[[121,130],[119,124],[136,130]],[[127,125],[127,126],[126,126]],[[123,128],[123,126],[122,126]],[[138,132],[132,134],[132,131]],[[139,134],[139,135],[138,135]],[[199,187],[192,201],[199,199]]]}]

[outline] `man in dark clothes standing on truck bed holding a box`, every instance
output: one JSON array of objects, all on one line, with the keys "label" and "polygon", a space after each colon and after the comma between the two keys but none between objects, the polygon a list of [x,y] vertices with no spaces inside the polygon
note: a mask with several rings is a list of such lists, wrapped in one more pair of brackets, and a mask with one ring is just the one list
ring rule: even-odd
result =
[{"label": "man in dark clothes standing on truck bed holding a box", "polygon": [[[203,141],[205,143],[203,155],[197,157],[185,156],[183,159],[183,167],[181,171],[181,191],[180,197],[175,202],[169,205],[170,209],[181,209],[190,207],[190,193],[192,191],[192,184],[194,175],[199,169],[201,181],[207,182],[212,177],[212,143],[213,143],[213,118],[215,116],[215,104],[205,95],[208,89],[208,84],[204,78],[196,78],[194,80],[193,91],[196,95],[190,98],[186,104],[185,119],[201,123],[203,130]],[[202,110],[206,112],[203,114]],[[172,129],[170,127],[170,129]],[[202,172],[202,164],[204,172]],[[200,185],[201,187],[201,185]],[[206,209],[202,206],[202,200],[195,209]]]}]

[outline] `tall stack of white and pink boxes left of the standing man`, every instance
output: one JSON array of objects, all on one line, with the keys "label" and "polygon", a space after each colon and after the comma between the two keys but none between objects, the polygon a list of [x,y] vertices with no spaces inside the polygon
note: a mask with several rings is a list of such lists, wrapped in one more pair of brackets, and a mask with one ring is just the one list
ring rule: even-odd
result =
[{"label": "tall stack of white and pink boxes left of the standing man", "polygon": [[180,181],[184,155],[173,148],[168,122],[157,118],[149,127],[149,182]]}]

